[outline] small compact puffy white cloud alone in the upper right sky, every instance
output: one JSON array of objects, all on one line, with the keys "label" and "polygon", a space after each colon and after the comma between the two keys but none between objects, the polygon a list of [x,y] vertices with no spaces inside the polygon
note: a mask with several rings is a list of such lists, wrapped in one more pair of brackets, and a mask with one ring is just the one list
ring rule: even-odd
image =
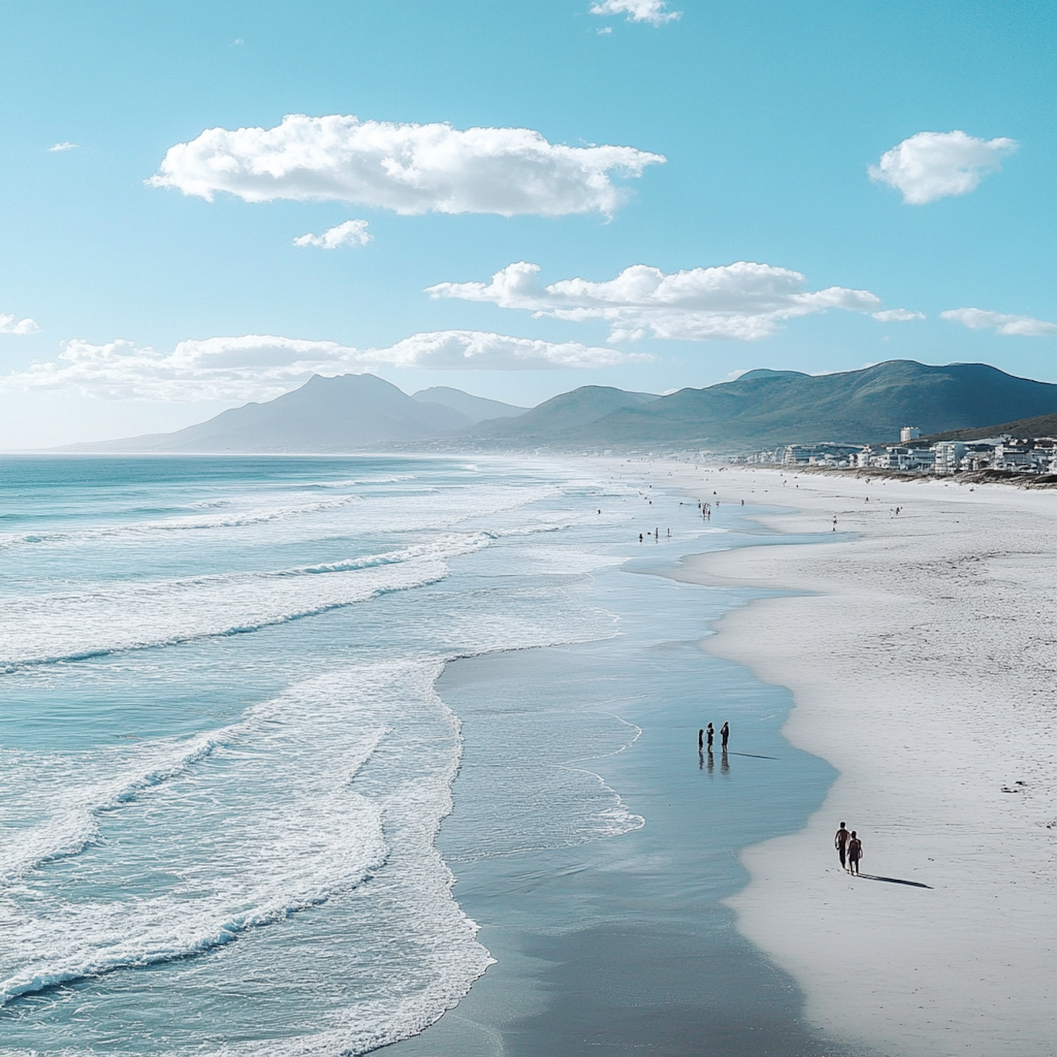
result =
[{"label": "small compact puffy white cloud alone in the upper right sky", "polygon": [[919,132],[880,155],[870,179],[903,192],[910,205],[952,194],[968,194],[988,172],[1001,172],[1000,159],[1016,140],[979,140],[964,132]]}]

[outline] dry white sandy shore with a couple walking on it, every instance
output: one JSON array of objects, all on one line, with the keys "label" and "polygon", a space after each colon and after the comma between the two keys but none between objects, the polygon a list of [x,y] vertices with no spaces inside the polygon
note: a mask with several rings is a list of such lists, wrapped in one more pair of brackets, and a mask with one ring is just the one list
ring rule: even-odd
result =
[{"label": "dry white sandy shore with a couple walking on it", "polygon": [[[804,830],[743,853],[741,930],[850,1045],[1057,1053],[1057,493],[648,472],[713,503],[789,507],[761,517],[780,532],[829,534],[836,517],[855,534],[679,574],[798,592],[728,613],[706,648],[789,687],[786,738],[840,772]],[[860,879],[833,851],[841,819],[864,839]]]}]

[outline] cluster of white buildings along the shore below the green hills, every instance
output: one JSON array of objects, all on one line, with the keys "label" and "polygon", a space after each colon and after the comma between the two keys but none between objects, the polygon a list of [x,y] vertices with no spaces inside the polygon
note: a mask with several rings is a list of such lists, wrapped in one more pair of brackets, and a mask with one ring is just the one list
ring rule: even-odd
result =
[{"label": "cluster of white buildings along the shore below the green hills", "polygon": [[950,475],[981,469],[1017,474],[1057,474],[1057,439],[1016,439],[1007,434],[978,441],[914,443],[917,430],[906,426],[898,444],[859,445],[824,442],[785,444],[730,456],[729,462],[780,466],[824,466],[833,469],[894,469]]}]

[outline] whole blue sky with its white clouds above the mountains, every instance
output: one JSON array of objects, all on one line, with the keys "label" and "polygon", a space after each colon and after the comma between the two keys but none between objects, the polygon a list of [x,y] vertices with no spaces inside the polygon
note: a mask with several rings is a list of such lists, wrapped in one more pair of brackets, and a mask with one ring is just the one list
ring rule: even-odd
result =
[{"label": "whole blue sky with its white clouds above the mountains", "polygon": [[0,0],[0,447],[313,373],[1057,382],[1052,0]]}]

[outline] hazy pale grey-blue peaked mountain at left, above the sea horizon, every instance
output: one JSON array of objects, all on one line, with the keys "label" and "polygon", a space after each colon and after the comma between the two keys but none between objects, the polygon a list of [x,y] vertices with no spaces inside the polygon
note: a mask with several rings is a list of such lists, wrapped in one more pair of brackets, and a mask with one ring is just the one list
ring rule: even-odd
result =
[{"label": "hazy pale grey-blue peaked mountain at left, above the sea horizon", "polygon": [[465,431],[474,420],[423,404],[374,374],[316,374],[266,404],[246,404],[177,430],[122,441],[70,445],[67,451],[350,451],[390,441]]}]

